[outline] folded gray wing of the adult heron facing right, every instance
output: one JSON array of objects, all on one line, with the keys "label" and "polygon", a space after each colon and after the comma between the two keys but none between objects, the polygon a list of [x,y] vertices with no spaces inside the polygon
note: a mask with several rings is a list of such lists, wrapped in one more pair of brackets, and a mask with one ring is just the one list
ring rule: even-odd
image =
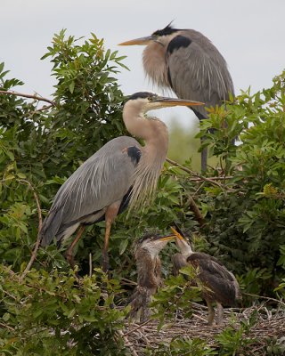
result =
[{"label": "folded gray wing of the adult heron facing right", "polygon": [[123,152],[139,143],[122,136],[106,143],[62,184],[41,231],[42,245],[53,240],[62,225],[120,201],[132,185],[134,163]]}]

